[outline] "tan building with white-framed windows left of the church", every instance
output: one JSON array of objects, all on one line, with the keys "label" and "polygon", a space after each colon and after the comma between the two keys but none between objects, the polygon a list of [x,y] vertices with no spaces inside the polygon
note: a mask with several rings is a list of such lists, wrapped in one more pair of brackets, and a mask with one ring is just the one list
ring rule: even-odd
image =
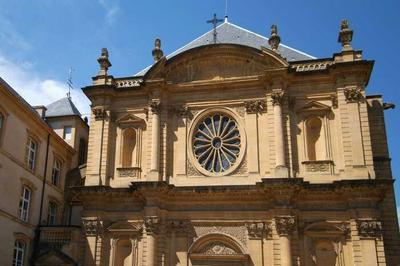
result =
[{"label": "tan building with white-framed windows left of the church", "polygon": [[68,222],[65,183],[88,126],[69,98],[32,107],[0,78],[0,99],[0,265],[29,265],[39,229]]}]

